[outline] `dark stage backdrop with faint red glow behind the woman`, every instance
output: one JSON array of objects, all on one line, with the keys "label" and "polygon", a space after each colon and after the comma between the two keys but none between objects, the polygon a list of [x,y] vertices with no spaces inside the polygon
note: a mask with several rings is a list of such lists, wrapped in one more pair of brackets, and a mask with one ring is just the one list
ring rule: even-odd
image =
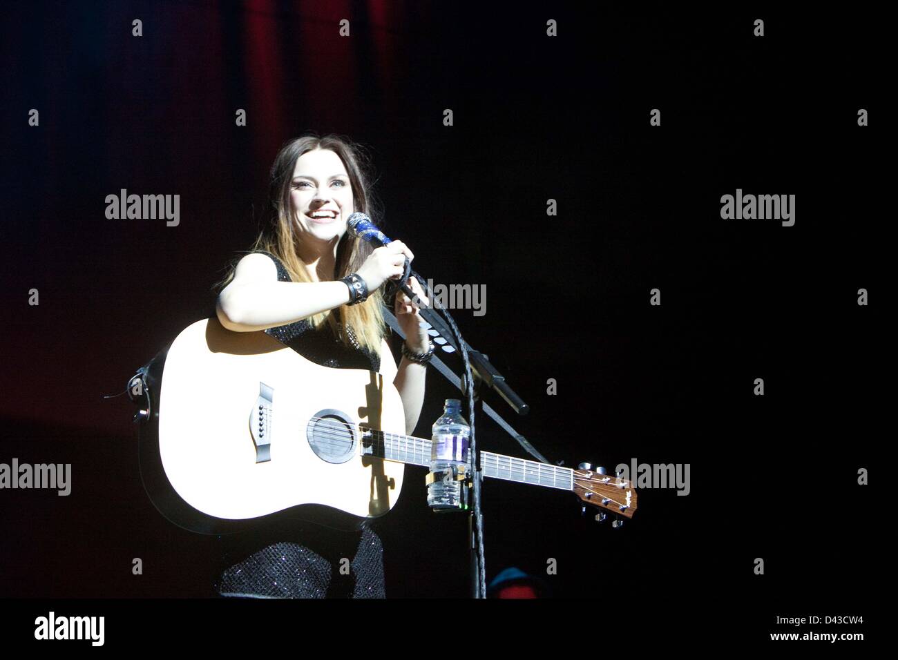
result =
[{"label": "dark stage backdrop with faint red glow behind the woman", "polygon": [[[888,189],[875,15],[414,2],[3,12],[0,461],[71,462],[74,485],[69,497],[0,492],[0,596],[213,595],[214,541],[154,509],[132,406],[101,395],[207,312],[255,236],[277,149],[313,130],[370,147],[384,231],[419,272],[487,285],[486,315],[455,318],[532,413],[488,400],[551,461],[691,464],[688,497],[644,489],[621,530],[581,517],[568,493],[487,481],[488,579],[508,566],[545,576],[556,558],[555,595],[628,619],[866,612],[876,487],[857,471],[874,467],[884,433],[892,222],[876,206]],[[337,36],[341,18],[351,38]],[[105,196],[122,188],[180,194],[180,226],[106,219]],[[722,220],[720,196],[737,188],[795,194],[796,224]],[[648,304],[654,287],[661,306]],[[431,370],[415,435],[429,436],[447,396]],[[485,415],[478,429],[481,448],[525,455]],[[424,471],[408,473],[376,528],[387,594],[464,596],[465,522],[431,514]]]}]

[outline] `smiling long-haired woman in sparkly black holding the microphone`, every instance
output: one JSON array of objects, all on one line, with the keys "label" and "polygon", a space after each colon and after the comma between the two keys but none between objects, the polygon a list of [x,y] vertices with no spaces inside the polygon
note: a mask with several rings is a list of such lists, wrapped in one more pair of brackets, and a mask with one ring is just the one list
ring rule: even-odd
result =
[{"label": "smiling long-haired woman in sparkly black holding the microphone", "polygon": [[[319,365],[392,379],[411,434],[434,347],[418,323],[417,305],[401,292],[394,310],[407,339],[398,366],[387,344],[381,286],[401,278],[405,258],[414,255],[401,241],[374,249],[348,233],[352,213],[370,215],[363,164],[359,147],[338,136],[302,136],[280,150],[271,168],[271,225],[222,283],[216,314],[228,330],[266,330]],[[428,304],[414,277],[409,287]],[[273,525],[219,539],[224,570],[216,592],[223,596],[385,595],[383,548],[370,525],[361,532]],[[342,558],[350,559],[351,575],[339,570]]]}]

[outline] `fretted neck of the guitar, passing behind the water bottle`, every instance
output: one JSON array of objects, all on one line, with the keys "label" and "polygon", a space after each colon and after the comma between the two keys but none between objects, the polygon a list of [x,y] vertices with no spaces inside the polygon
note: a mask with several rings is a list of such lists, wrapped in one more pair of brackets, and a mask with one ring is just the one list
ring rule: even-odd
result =
[{"label": "fretted neck of the guitar, passing behind the water bottle", "polygon": [[[362,443],[363,453],[372,454],[385,461],[430,467],[430,440],[371,429],[362,430],[365,434],[365,442]],[[480,452],[480,467],[484,476],[494,479],[561,490],[574,489],[574,471],[571,468],[491,452]]]}]

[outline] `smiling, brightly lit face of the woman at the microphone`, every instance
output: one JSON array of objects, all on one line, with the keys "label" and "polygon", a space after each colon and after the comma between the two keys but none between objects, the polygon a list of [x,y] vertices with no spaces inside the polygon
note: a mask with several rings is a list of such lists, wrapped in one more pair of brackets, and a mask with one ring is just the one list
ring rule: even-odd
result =
[{"label": "smiling, brightly lit face of the woman at the microphone", "polygon": [[339,241],[354,210],[352,186],[339,155],[330,149],[315,149],[297,158],[290,200],[302,238]]}]

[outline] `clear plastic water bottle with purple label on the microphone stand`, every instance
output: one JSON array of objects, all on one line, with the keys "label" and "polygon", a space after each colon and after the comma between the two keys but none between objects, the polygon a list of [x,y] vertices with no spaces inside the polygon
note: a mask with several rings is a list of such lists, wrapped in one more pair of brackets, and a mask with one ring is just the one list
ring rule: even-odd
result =
[{"label": "clear plastic water bottle with purple label on the microphone stand", "polygon": [[461,400],[446,399],[431,439],[427,506],[435,511],[463,511],[468,508],[468,488],[459,477],[468,476],[471,427],[462,417]]}]

